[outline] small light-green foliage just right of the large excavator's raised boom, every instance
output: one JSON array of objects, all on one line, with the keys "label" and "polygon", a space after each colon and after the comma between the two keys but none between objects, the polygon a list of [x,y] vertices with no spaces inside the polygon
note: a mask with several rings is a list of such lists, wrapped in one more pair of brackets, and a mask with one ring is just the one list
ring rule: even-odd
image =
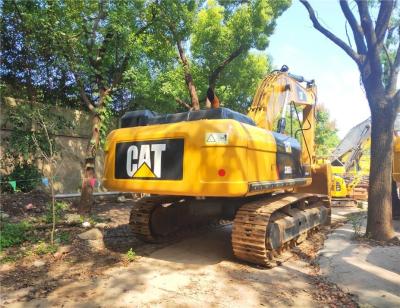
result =
[{"label": "small light-green foliage just right of the large excavator's raised boom", "polygon": [[328,110],[319,106],[316,111],[315,145],[318,156],[327,156],[338,145],[339,137],[335,122],[330,120]]}]

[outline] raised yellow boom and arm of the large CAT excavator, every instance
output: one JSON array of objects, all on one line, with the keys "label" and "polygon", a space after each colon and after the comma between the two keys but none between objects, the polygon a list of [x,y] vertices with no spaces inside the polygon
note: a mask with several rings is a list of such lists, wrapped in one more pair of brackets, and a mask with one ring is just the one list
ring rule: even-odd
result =
[{"label": "raised yellow boom and arm of the large CAT excavator", "polygon": [[303,168],[312,181],[305,187],[296,187],[295,191],[330,196],[330,162],[318,163],[315,157],[317,87],[314,80],[291,74],[288,70],[284,65],[261,82],[248,116],[257,126],[275,130],[301,143]]}]

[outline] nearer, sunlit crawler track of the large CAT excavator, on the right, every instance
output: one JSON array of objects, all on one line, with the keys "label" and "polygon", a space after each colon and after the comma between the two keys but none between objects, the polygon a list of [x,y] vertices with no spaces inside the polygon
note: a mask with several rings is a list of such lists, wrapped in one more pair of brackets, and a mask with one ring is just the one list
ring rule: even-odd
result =
[{"label": "nearer, sunlit crawler track of the large CAT excavator, on the right", "polygon": [[[324,217],[322,223],[311,219],[317,217],[321,210],[329,217]],[[301,232],[287,235],[276,227],[288,224],[285,219],[290,224],[290,219],[293,219],[291,217],[302,217],[304,211],[308,211],[307,215],[310,218],[302,220],[306,226],[301,227]],[[298,221],[301,224],[301,221]],[[314,232],[321,224],[329,223],[330,201],[326,196],[303,193],[280,194],[249,202],[240,207],[234,219],[233,252],[243,261],[274,267],[282,263],[281,257],[285,250],[296,245],[301,238]],[[294,224],[290,228],[294,230]]]}]

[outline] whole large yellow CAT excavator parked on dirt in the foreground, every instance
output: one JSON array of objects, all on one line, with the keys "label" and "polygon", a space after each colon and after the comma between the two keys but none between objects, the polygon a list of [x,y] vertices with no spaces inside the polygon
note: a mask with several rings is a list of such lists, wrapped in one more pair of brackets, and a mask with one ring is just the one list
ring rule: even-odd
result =
[{"label": "whole large yellow CAT excavator parked on dirt in the foreground", "polygon": [[315,82],[283,66],[261,82],[247,116],[128,112],[107,137],[103,183],[150,194],[130,215],[144,241],[233,220],[234,255],[276,265],[282,251],[330,224],[331,169],[315,163],[316,99]]}]

